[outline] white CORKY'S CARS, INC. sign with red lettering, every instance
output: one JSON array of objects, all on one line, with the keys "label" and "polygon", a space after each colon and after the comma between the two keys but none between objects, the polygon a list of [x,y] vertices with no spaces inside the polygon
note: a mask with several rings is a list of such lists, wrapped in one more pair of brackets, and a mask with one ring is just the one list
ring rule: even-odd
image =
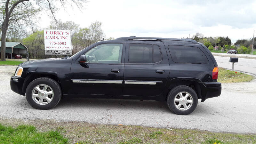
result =
[{"label": "white CORKY'S CARS, INC. sign with red lettering", "polygon": [[45,54],[72,55],[71,31],[44,29]]}]

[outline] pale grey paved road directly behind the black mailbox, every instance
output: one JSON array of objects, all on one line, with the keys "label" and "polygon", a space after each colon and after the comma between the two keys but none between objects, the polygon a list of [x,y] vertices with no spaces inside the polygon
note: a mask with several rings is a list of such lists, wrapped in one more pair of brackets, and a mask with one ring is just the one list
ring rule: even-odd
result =
[{"label": "pale grey paved road directly behind the black mailbox", "polygon": [[[232,69],[232,62],[229,62],[229,57],[214,56],[219,67]],[[238,62],[234,65],[234,70],[247,72],[256,76],[256,60],[238,58]]]}]

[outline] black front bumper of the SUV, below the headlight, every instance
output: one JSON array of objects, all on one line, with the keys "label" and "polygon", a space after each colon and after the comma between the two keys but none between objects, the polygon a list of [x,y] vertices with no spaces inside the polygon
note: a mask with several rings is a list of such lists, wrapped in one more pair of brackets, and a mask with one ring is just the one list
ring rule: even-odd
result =
[{"label": "black front bumper of the SUV, below the headlight", "polygon": [[[18,80],[15,81],[13,79],[18,79]],[[10,79],[11,90],[18,94],[22,94],[22,86],[23,86],[24,80],[25,79],[22,77],[12,76]]]}]

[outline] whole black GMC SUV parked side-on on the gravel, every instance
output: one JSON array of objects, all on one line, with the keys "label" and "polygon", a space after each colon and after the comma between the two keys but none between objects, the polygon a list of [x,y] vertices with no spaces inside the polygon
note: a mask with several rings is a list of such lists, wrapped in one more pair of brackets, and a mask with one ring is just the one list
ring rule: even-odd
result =
[{"label": "whole black GMC SUV parked side-on on the gravel", "polygon": [[218,67],[212,53],[191,39],[120,37],[96,42],[71,57],[21,63],[12,91],[37,109],[61,96],[165,100],[187,115],[197,100],[219,96]]}]

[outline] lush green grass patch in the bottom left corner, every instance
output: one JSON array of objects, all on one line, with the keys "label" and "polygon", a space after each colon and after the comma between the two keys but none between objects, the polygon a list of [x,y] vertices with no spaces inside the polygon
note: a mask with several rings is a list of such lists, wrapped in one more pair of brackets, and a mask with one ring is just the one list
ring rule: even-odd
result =
[{"label": "lush green grass patch in the bottom left corner", "polygon": [[37,132],[35,126],[19,125],[17,128],[0,124],[0,143],[67,143],[58,131]]}]

